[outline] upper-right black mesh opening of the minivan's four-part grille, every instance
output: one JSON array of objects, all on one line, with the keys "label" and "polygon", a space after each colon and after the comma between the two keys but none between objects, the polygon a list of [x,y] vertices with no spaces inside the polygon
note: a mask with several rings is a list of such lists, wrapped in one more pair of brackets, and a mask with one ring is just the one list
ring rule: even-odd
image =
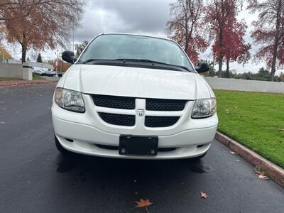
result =
[{"label": "upper-right black mesh opening of the minivan's four-part grille", "polygon": [[182,111],[186,100],[175,99],[146,99],[146,110],[151,111]]}]

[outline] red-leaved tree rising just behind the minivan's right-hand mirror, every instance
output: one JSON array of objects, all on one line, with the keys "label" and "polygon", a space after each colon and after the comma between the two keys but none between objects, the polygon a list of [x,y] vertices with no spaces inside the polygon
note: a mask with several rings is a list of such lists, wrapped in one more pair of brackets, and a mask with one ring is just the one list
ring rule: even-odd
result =
[{"label": "red-leaved tree rising just behind the minivan's right-hand mirror", "polygon": [[167,23],[168,37],[178,42],[194,63],[208,46],[202,33],[202,8],[202,0],[177,0],[170,4]]}]

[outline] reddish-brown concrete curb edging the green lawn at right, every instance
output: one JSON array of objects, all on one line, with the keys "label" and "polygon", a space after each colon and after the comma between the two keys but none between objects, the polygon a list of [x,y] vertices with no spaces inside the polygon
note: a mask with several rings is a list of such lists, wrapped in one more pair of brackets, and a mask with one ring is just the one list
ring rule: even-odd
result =
[{"label": "reddish-brown concrete curb edging the green lawn at right", "polygon": [[284,170],[278,165],[275,165],[266,158],[261,157],[257,153],[251,151],[249,148],[241,145],[234,141],[232,138],[225,136],[224,134],[217,131],[215,138],[225,146],[228,146],[232,151],[240,155],[242,158],[247,160],[251,165],[258,167],[260,170],[266,172],[266,174],[280,186],[284,187]]}]

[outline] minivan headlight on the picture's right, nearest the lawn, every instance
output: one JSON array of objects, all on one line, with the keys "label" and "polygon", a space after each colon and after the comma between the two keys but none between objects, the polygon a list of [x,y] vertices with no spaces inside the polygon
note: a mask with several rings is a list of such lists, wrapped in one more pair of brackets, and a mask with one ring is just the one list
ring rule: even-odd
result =
[{"label": "minivan headlight on the picture's right, nearest the lawn", "polygon": [[192,110],[192,119],[203,119],[217,111],[216,99],[197,99]]}]

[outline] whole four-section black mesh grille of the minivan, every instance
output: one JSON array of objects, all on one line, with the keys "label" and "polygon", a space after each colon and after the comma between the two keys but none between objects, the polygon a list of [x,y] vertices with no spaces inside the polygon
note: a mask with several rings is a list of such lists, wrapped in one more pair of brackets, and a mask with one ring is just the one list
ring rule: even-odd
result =
[{"label": "whole four-section black mesh grille of the minivan", "polygon": [[[94,105],[97,107],[105,107],[110,109],[97,108],[97,113],[101,119],[107,124],[112,124],[116,126],[134,126],[136,124],[136,111],[127,111],[136,109],[136,99],[137,97],[119,97],[111,95],[102,94],[91,94],[94,101]],[[141,98],[143,99],[143,98]],[[144,126],[151,128],[158,127],[168,127],[175,125],[180,116],[164,116],[163,111],[182,111],[185,109],[185,104],[187,100],[177,100],[177,99],[145,99],[146,115]],[[119,111],[119,114],[113,113],[111,109],[126,109],[126,111]],[[143,108],[142,108],[143,109]],[[148,116],[148,111],[159,111],[158,115],[153,114]],[[181,113],[181,112],[180,112]]]}]

